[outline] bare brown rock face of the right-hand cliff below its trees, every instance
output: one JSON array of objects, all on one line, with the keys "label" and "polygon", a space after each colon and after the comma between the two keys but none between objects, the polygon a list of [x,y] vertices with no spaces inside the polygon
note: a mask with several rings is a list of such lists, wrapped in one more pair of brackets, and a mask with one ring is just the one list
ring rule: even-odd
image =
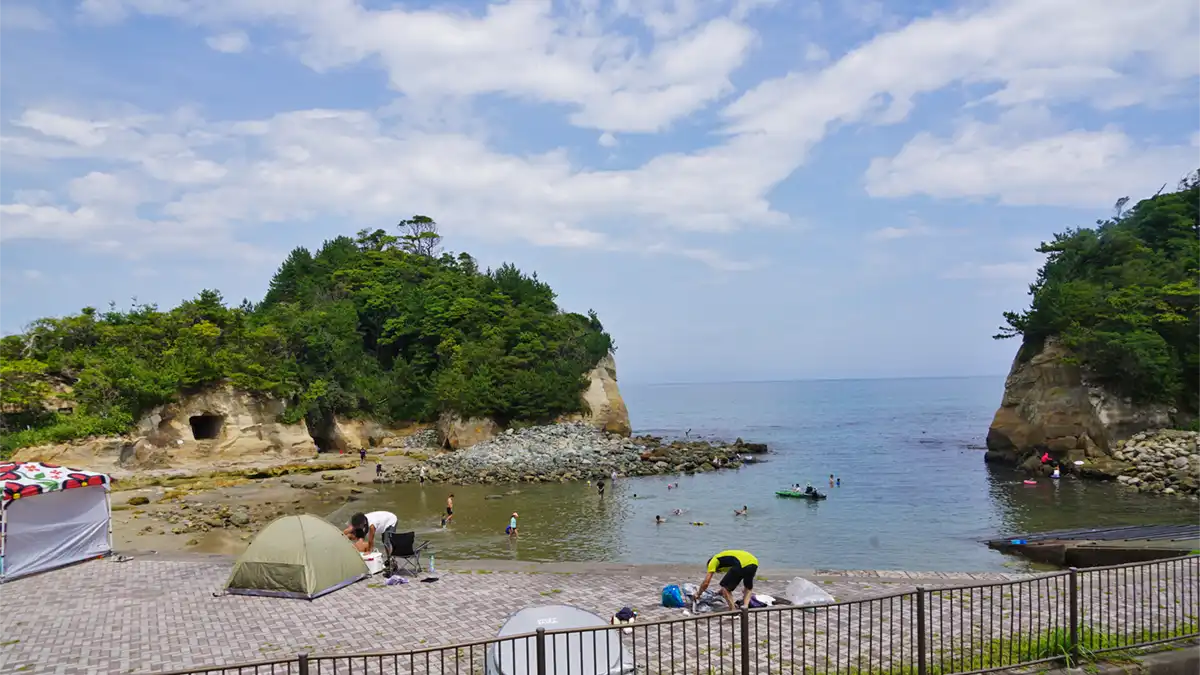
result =
[{"label": "bare brown rock face of the right-hand cliff below its trees", "polygon": [[986,460],[1036,468],[1049,452],[1060,461],[1103,465],[1134,434],[1171,426],[1172,413],[1168,406],[1134,405],[1087,382],[1070,352],[1054,340],[1036,352],[1026,345],[1013,360],[988,429]]}]

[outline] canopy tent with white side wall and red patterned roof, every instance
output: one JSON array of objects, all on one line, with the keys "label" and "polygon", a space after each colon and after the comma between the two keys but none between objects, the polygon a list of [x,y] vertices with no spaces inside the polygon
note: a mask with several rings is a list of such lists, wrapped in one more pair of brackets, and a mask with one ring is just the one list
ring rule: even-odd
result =
[{"label": "canopy tent with white side wall and red patterned roof", "polygon": [[0,583],[112,552],[108,488],[103,473],[0,464]]}]

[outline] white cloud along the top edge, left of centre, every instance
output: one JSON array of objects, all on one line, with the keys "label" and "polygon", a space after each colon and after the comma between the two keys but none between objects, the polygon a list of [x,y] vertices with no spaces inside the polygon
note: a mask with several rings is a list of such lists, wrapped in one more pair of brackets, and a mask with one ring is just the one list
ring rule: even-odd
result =
[{"label": "white cloud along the top edge, left of centre", "polygon": [[85,0],[80,10],[103,20],[138,11],[205,25],[269,22],[294,32],[301,60],[318,71],[373,61],[406,96],[503,92],[565,103],[572,124],[604,131],[660,131],[731,92],[730,74],[755,37],[728,17],[700,20],[689,2],[668,13],[662,2],[617,2],[617,14],[662,29],[643,52],[590,5],[556,14],[548,0],[496,4],[481,17],[350,0]]}]

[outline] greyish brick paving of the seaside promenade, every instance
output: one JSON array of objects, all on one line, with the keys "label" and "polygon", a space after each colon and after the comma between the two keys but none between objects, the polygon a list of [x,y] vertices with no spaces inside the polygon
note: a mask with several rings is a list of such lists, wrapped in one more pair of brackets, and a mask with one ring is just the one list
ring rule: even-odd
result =
[{"label": "greyish brick paving of the seaside promenade", "polygon": [[[487,640],[514,611],[550,603],[574,604],[602,616],[622,605],[638,609],[640,622],[622,633],[622,645],[638,673],[733,673],[740,655],[737,616],[685,617],[682,610],[659,607],[664,585],[692,579],[636,572],[457,572],[442,573],[433,584],[383,586],[372,579],[313,602],[214,597],[228,569],[217,562],[96,561],[5,584],[0,586],[7,610],[0,614],[0,673],[162,673],[286,662],[298,652],[311,652],[322,655],[310,664],[314,674],[481,674],[486,645],[403,657],[349,655]],[[822,587],[848,604],[751,613],[752,673],[775,675],[806,667],[848,675],[916,663],[912,591],[918,577],[929,587],[1010,584],[926,595],[926,651],[930,659],[942,659],[948,671],[966,670],[953,663],[964,650],[1006,634],[1068,623],[1066,575],[818,574]],[[756,591],[782,595],[787,580],[768,577]],[[1080,610],[1086,625],[1105,632],[1164,631],[1195,622],[1198,590],[1200,563],[1195,558],[1156,567],[1153,574],[1081,574]],[[1128,607],[1141,610],[1132,614]],[[658,620],[671,622],[647,623]],[[572,661],[581,653],[587,657],[593,646],[602,655],[604,645],[605,632],[547,638],[551,652],[563,650],[574,655]],[[533,640],[509,641],[499,649],[532,652],[534,645]],[[226,673],[293,675],[299,669],[293,662]]]}]

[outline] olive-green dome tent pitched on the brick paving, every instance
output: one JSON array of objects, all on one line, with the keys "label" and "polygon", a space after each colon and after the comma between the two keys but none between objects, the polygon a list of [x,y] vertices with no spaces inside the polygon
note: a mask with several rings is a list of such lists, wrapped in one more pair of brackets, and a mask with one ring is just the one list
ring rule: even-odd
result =
[{"label": "olive-green dome tent pitched on the brick paving", "polygon": [[311,601],[365,577],[362,556],[336,526],[316,515],[286,515],[250,543],[226,592]]}]

